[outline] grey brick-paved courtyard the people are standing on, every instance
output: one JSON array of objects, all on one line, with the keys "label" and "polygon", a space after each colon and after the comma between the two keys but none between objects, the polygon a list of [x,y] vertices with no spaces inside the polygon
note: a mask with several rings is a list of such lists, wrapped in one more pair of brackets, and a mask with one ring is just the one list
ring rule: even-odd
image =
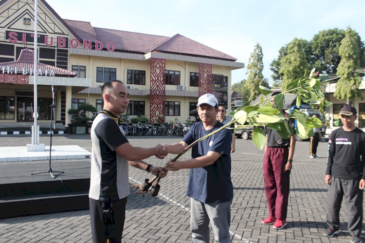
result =
[{"label": "grey brick-paved courtyard the people are standing on", "polygon": [[[181,137],[129,136],[128,139],[132,145],[140,147],[181,141]],[[0,139],[0,147],[25,146],[29,143],[29,135],[6,135]],[[41,136],[40,143],[49,145],[49,137]],[[52,144],[79,145],[91,151],[90,135],[54,135]],[[288,225],[282,230],[276,230],[272,225],[261,224],[261,220],[268,216],[262,179],[263,151],[256,149],[251,140],[236,139],[237,150],[232,154],[232,242],[350,242],[344,203],[340,212],[340,234],[333,238],[322,234],[327,227],[327,185],[324,182],[327,145],[327,142],[320,142],[317,153],[320,158],[310,159],[309,142],[297,142],[291,172]],[[190,152],[187,152],[182,158],[188,158],[189,155]],[[168,155],[168,158],[173,158],[173,155]],[[64,162],[74,161],[90,163],[90,160]],[[151,158],[146,161],[163,166],[166,159],[161,161]],[[1,162],[0,169],[4,163],[44,163],[45,168],[48,168],[48,161],[32,161]],[[160,195],[157,197],[142,197],[134,194],[131,188],[122,242],[191,242],[190,198],[185,196],[187,176],[188,170],[170,172],[161,180]],[[145,178],[151,176],[145,171],[130,168],[131,184],[142,182]],[[211,241],[213,240],[211,234]],[[89,211],[0,219],[0,242],[92,242]]]}]

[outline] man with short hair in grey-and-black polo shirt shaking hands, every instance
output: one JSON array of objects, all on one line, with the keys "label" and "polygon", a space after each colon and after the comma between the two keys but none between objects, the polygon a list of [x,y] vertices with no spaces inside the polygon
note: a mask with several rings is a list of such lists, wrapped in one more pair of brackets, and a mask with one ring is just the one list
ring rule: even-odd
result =
[{"label": "man with short hair in grey-and-black polo shirt shaking hands", "polygon": [[[101,88],[104,109],[91,126],[90,218],[92,242],[120,243],[129,195],[128,165],[166,175],[161,167],[142,159],[167,155],[161,145],[154,148],[133,147],[118,124],[118,116],[127,111],[128,89],[119,80],[106,82]],[[129,160],[129,161],[128,161]]]}]

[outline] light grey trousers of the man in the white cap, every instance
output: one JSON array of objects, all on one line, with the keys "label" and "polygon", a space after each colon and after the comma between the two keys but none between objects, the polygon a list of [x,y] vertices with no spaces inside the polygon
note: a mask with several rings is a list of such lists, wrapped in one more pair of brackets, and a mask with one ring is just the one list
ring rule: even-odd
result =
[{"label": "light grey trousers of the man in the white cap", "polygon": [[212,224],[214,240],[230,243],[231,202],[204,204],[191,198],[190,228],[194,243],[209,243],[209,222]]}]

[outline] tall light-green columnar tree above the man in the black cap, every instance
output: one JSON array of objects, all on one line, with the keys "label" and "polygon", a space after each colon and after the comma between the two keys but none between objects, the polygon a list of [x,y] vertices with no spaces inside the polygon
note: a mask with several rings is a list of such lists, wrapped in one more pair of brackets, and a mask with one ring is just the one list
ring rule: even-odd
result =
[{"label": "tall light-green columnar tree above the man in the black cap", "polygon": [[336,84],[334,96],[338,99],[346,99],[347,104],[353,98],[363,98],[359,90],[361,77],[354,72],[360,68],[360,48],[358,42],[357,33],[348,27],[338,51],[341,61],[336,75],[339,75],[340,79]]}]

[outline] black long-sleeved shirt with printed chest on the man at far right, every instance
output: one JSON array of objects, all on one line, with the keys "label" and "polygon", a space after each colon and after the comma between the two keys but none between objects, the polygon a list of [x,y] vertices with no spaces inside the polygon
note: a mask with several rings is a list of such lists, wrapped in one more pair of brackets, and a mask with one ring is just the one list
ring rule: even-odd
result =
[{"label": "black long-sleeved shirt with printed chest on the man at far right", "polygon": [[365,179],[363,154],[365,132],[355,128],[345,131],[342,127],[329,137],[326,175],[340,179]]}]

